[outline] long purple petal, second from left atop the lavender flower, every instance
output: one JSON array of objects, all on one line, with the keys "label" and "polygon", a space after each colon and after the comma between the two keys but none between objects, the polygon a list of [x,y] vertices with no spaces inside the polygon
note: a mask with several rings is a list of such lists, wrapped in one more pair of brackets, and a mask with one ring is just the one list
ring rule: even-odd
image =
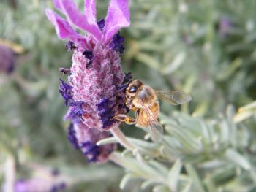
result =
[{"label": "long purple petal, second from left atop the lavender flower", "polygon": [[92,18],[90,17],[89,22],[86,15],[80,13],[78,7],[76,7],[75,3],[72,0],[59,0],[58,4],[56,5],[61,7],[61,11],[66,15],[70,23],[74,24],[75,26],[84,31],[89,32],[98,40],[101,39],[101,32],[97,26],[96,21],[94,21],[94,23],[91,23]]}]

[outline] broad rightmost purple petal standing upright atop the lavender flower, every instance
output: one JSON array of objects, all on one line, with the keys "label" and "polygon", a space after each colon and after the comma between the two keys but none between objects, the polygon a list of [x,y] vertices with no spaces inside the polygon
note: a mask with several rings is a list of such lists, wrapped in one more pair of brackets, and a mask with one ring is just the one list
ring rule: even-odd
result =
[{"label": "broad rightmost purple petal standing upright atop the lavender flower", "polygon": [[129,0],[111,0],[105,19],[104,42],[109,42],[116,32],[129,26]]}]

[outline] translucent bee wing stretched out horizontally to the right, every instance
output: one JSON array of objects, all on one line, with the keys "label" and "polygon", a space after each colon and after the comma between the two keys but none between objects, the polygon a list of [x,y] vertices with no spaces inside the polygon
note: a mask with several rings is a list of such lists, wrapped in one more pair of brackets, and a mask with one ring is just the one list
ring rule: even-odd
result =
[{"label": "translucent bee wing stretched out horizontally to the right", "polygon": [[184,91],[155,91],[159,99],[166,101],[168,104],[184,104],[192,100],[192,97]]}]

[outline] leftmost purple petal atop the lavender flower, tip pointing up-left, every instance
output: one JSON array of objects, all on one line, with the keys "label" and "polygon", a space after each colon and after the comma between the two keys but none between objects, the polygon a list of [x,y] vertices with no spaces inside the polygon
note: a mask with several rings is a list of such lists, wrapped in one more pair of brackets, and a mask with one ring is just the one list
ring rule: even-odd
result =
[{"label": "leftmost purple petal atop the lavender flower, tip pointing up-left", "polygon": [[50,9],[46,9],[45,13],[50,20],[51,23],[55,26],[56,33],[59,39],[69,39],[72,42],[75,42],[76,45],[80,45],[81,47],[86,46],[86,39],[83,36],[78,34],[74,29],[71,28],[67,20],[59,17],[55,12]]}]

